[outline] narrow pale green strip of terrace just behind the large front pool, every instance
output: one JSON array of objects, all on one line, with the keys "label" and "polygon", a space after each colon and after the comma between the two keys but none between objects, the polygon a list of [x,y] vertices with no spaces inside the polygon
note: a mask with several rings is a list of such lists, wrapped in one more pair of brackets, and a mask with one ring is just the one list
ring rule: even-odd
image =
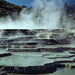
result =
[{"label": "narrow pale green strip of terrace just behind the large front pool", "polygon": [[14,55],[20,55],[20,56],[43,56],[45,58],[58,58],[58,57],[70,57],[73,54],[70,53],[59,53],[59,52],[11,52]]}]

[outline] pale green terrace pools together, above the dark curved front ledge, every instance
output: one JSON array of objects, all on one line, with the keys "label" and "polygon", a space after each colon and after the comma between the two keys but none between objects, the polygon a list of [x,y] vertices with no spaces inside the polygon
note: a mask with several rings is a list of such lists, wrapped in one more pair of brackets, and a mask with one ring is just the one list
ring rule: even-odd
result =
[{"label": "pale green terrace pools together, above the dark curved front ledge", "polygon": [[[8,51],[0,50],[0,54],[8,53]],[[12,56],[0,58],[0,65],[5,66],[43,66],[44,64],[53,63],[55,61],[74,61],[73,54],[68,52],[11,52]],[[72,56],[72,57],[71,57]]]}]

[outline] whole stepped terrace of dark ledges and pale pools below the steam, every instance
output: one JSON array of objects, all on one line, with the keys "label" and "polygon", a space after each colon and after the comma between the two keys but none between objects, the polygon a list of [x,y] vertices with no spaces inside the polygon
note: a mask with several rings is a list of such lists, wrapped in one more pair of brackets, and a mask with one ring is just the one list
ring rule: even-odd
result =
[{"label": "whole stepped terrace of dark ledges and pale pools below the steam", "polygon": [[[24,35],[20,36],[15,36],[16,33],[14,35],[10,33],[9,36],[3,34],[4,38],[0,38],[1,71],[17,74],[39,74],[53,73],[57,68],[75,67],[74,44],[70,45],[67,39],[67,41],[63,39],[65,42],[55,37],[52,39],[49,30],[45,30],[49,35],[48,33],[44,35],[44,30],[40,30],[40,33],[36,31],[26,30],[26,33],[24,32]],[[39,36],[41,33],[44,36]],[[74,36],[72,35],[72,37]]]}]

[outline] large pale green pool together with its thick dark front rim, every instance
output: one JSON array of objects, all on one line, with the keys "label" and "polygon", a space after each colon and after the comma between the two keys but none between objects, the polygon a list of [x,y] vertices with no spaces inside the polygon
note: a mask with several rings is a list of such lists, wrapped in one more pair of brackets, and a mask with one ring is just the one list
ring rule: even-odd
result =
[{"label": "large pale green pool together with its thick dark front rim", "polygon": [[43,57],[13,55],[0,58],[0,65],[0,70],[17,74],[53,73],[57,70],[53,59],[50,60]]}]

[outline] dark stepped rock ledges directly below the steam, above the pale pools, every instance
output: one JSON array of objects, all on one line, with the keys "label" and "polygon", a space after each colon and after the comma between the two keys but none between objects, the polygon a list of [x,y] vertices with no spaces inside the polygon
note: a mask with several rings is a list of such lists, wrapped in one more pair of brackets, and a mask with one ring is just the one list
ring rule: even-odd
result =
[{"label": "dark stepped rock ledges directly below the steam, above the pale pools", "polygon": [[[24,30],[24,34],[18,36],[16,33],[21,30],[3,30],[2,37],[0,38],[0,48],[6,49],[8,51],[12,52],[63,52],[63,51],[70,51],[75,49],[75,47],[70,46],[70,40],[72,37],[75,38],[74,35],[67,35],[67,38],[64,39],[58,39],[55,36],[59,37],[60,33],[56,33],[55,36],[53,31],[47,31],[47,30]],[[13,32],[14,31],[14,32]],[[23,31],[23,30],[22,30]],[[44,34],[43,31],[45,31]],[[9,33],[9,36],[6,34]],[[35,33],[35,34],[34,34]],[[50,34],[51,33],[51,34]],[[62,33],[61,33],[62,34]],[[68,33],[69,34],[69,33]],[[40,36],[44,35],[44,36]],[[51,37],[54,38],[51,38]],[[68,40],[69,38],[69,40]],[[74,44],[73,44],[74,45]]]}]

